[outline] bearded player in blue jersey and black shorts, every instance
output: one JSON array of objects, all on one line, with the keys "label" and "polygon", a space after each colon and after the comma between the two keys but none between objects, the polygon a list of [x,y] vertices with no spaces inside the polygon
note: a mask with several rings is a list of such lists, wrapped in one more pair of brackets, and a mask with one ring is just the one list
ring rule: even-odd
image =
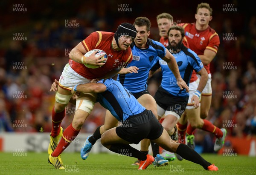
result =
[{"label": "bearded player in blue jersey and black shorts", "polygon": [[[189,84],[193,70],[201,75],[197,91],[190,99],[191,103],[194,102],[194,108],[198,108],[201,92],[207,83],[208,75],[198,55],[183,45],[182,40],[184,36],[184,29],[182,27],[172,26],[168,31],[169,46],[167,46],[167,49],[174,55],[179,66],[180,75],[187,84]],[[162,126],[172,136],[176,132],[176,123],[186,109],[189,93],[177,86],[177,79],[168,69],[167,63],[161,58],[158,59],[157,64],[151,69],[150,75],[158,68],[161,68],[163,78],[161,86],[154,96],[157,102],[157,115],[158,118],[163,116]],[[185,143],[185,141],[182,141],[182,143]],[[154,145],[153,152],[154,154],[159,153],[159,147]],[[163,152],[162,156],[166,157],[165,154]],[[179,160],[182,159],[179,156],[177,157]]]}]

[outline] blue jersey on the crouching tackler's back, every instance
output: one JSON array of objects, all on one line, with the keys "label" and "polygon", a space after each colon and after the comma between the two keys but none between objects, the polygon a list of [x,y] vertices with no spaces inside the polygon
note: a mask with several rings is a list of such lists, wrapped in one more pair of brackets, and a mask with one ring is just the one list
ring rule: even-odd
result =
[{"label": "blue jersey on the crouching tackler's back", "polygon": [[125,121],[130,116],[140,114],[145,110],[131,92],[124,88],[118,81],[104,79],[97,83],[103,83],[107,87],[105,92],[98,94],[97,100],[118,121]]}]

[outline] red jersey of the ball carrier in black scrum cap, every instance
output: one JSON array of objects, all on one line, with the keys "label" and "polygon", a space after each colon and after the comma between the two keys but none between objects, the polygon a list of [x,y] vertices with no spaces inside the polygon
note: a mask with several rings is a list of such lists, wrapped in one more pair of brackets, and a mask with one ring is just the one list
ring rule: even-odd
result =
[{"label": "red jersey of the ball carrier in black scrum cap", "polygon": [[69,60],[70,67],[76,71],[79,75],[86,77],[88,80],[103,77],[107,72],[113,69],[119,69],[120,66],[125,66],[131,62],[132,53],[131,48],[126,50],[115,51],[112,48],[112,40],[114,33],[111,32],[93,32],[81,43],[84,46],[86,52],[93,49],[101,49],[108,55],[107,62],[96,69],[90,69],[84,66],[82,63]]}]

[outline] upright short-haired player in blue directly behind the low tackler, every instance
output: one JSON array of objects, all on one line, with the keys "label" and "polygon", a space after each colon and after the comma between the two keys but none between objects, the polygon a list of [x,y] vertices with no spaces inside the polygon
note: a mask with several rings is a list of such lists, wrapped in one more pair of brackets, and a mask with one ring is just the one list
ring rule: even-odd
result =
[{"label": "upright short-haired player in blue directly behind the low tackler", "polygon": [[[156,63],[157,57],[166,61],[168,68],[170,71],[172,70],[177,78],[177,85],[180,89],[184,88],[185,91],[188,91],[187,85],[180,76],[175,57],[173,57],[163,44],[148,38],[151,26],[150,20],[146,17],[137,17],[134,21],[134,26],[137,30],[137,35],[131,45],[133,60],[127,65],[128,68],[122,69],[119,72],[117,80],[135,96],[142,106],[151,110],[153,114],[157,116],[157,104],[147,91],[148,74],[151,67]],[[89,143],[89,145],[84,144],[82,147],[81,158],[84,160],[87,159],[88,152],[96,140],[101,137],[102,133],[116,125],[117,120],[107,111],[104,125],[99,126],[93,135],[87,138],[87,143]],[[148,153],[149,145],[149,140],[143,140],[141,142],[141,151]],[[166,162],[165,160],[160,159],[161,158],[157,158],[154,165],[163,166],[168,164],[168,161]]]}]

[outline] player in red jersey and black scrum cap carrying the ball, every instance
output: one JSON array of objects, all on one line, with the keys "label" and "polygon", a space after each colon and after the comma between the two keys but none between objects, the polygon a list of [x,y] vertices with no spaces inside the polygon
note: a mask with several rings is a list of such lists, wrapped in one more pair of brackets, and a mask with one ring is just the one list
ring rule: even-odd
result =
[{"label": "player in red jersey and black scrum cap carrying the ball", "polygon": [[[95,78],[116,75],[121,70],[120,65],[130,63],[132,60],[129,46],[136,34],[137,31],[132,24],[122,23],[115,33],[99,31],[91,33],[71,50],[69,63],[64,67],[58,82],[55,105],[52,109],[52,131],[48,147],[49,162],[51,164],[57,165],[58,161],[61,161],[61,152],[79,134],[81,126],[93,109],[96,100],[96,96],[93,94],[80,94],[76,99],[76,112],[73,121],[64,131],[60,125],[65,116],[65,107],[72,96],[72,87],[80,83],[89,83],[90,80]],[[96,57],[96,52],[89,57],[85,57],[84,54],[92,49],[105,51],[108,55],[108,61],[101,63],[105,59],[101,60],[101,57]],[[84,66],[84,63],[101,67],[90,69]],[[61,140],[58,143],[60,138]]]}]

